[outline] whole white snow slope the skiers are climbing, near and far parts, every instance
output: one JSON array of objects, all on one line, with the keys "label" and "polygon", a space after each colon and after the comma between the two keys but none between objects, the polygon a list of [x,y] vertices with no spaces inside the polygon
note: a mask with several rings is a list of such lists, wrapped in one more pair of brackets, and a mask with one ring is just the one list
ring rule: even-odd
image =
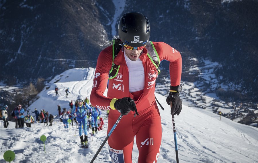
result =
[{"label": "whole white snow slope the skiers are climbing, near and far parts", "polygon": [[[51,114],[57,114],[57,105],[68,107],[70,100],[78,95],[89,97],[92,87],[93,68],[70,69],[57,75],[50,81],[50,87],[40,92],[40,98],[30,108],[45,109]],[[58,86],[59,96],[55,96],[54,88]],[[68,98],[64,90],[69,87]],[[174,138],[169,114],[169,106],[165,97],[157,94],[159,102],[165,107],[160,110],[162,119],[162,144],[158,162],[176,162]],[[105,117],[105,112],[102,113]],[[122,119],[123,120],[123,119]],[[106,137],[107,120],[104,121],[103,131],[91,137],[89,148],[82,149],[79,144],[76,128],[64,129],[61,122],[55,119],[53,126],[32,124],[32,128],[15,129],[10,122],[9,128],[0,126],[1,160],[6,150],[15,152],[14,162],[90,162],[99,146]],[[179,161],[182,162],[258,162],[258,129],[233,122],[203,109],[191,108],[183,105],[179,116],[175,116],[177,129],[177,144]],[[118,124],[119,125],[119,124]],[[76,136],[75,135],[76,132]],[[47,136],[44,152],[41,135]],[[138,150],[136,144],[133,149],[132,160],[137,162]],[[110,162],[107,143],[102,148],[95,162]]]}]

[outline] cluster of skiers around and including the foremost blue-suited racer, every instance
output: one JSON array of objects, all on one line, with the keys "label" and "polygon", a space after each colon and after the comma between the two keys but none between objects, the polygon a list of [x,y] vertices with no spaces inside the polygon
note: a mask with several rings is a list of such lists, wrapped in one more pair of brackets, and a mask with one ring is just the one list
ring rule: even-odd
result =
[{"label": "cluster of skiers around and including the foremost blue-suited racer", "polygon": [[[63,108],[58,105],[58,114],[60,121],[63,122],[64,128],[69,128],[68,121],[73,121],[78,126],[79,137],[81,139],[81,147],[88,148],[88,130],[91,130],[91,134],[96,134],[103,128],[103,118],[100,117],[101,111],[89,104],[89,99],[78,96],[75,103],[69,102],[69,109]],[[69,120],[70,119],[70,120]]]}]

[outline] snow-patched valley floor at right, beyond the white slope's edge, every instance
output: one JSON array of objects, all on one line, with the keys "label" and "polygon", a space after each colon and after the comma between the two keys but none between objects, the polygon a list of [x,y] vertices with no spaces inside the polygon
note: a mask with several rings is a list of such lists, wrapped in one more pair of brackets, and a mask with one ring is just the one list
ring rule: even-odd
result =
[{"label": "snow-patched valley floor at right, beyond the white slope's edge", "polygon": [[[192,58],[192,60],[198,61],[196,58]],[[193,82],[181,80],[183,90],[180,93],[180,97],[183,103],[191,107],[206,109],[214,113],[221,111],[223,116],[230,118],[231,120],[257,127],[258,121],[255,118],[258,115],[255,113],[255,110],[258,110],[257,103],[242,103],[241,101],[235,102],[234,100],[221,98],[222,93],[220,92],[223,91],[223,94],[226,94],[227,92],[230,92],[230,90],[240,89],[242,85],[236,85],[232,82],[223,82],[222,76],[216,76],[216,69],[221,67],[218,62],[212,62],[207,59],[202,59],[200,62],[202,64],[193,65],[189,70],[182,72],[182,78],[193,73],[198,76],[198,79]],[[169,85],[170,77],[167,77],[164,79],[163,83],[156,84],[156,92],[167,96],[167,88]],[[220,90],[220,92],[218,90]],[[228,102],[224,100],[227,100]],[[241,122],[247,119],[247,122]]]}]

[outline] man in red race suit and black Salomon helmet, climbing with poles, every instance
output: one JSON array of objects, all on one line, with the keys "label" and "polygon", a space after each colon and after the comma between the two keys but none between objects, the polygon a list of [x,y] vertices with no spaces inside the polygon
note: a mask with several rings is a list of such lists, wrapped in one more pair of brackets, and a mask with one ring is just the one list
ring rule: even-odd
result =
[{"label": "man in red race suit and black Salomon helmet, climbing with poles", "polygon": [[[132,162],[132,148],[136,136],[138,162],[157,162],[162,130],[154,95],[159,71],[156,60],[170,62],[171,86],[167,103],[173,104],[171,114],[179,115],[182,109],[179,97],[182,88],[181,55],[164,42],[149,41],[150,24],[142,13],[124,14],[119,21],[118,33],[122,48],[117,55],[114,55],[116,53],[114,46],[105,48],[99,54],[90,96],[91,104],[100,109],[110,110],[107,133],[120,114],[126,115],[108,139],[113,161]],[[150,54],[153,54],[156,60],[151,59]],[[112,68],[113,65],[119,67]],[[111,69],[117,71],[113,77]],[[108,92],[105,97],[103,93],[107,85]],[[135,106],[138,116],[135,116]]]}]

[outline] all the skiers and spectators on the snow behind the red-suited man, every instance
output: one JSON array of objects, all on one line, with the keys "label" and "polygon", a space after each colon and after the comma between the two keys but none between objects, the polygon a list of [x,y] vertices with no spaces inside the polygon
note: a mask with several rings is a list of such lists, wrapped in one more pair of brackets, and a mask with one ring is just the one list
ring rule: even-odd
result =
[{"label": "all the skiers and spectators on the snow behind the red-suited man", "polygon": [[[4,120],[5,128],[8,128],[9,125],[9,122],[7,120],[7,110],[7,105],[1,108],[1,118]],[[44,123],[44,126],[48,126],[48,122],[49,126],[52,126],[54,116],[52,114],[48,114],[48,111],[42,109],[39,112],[35,108],[32,113],[35,114],[35,118],[33,118],[33,116],[30,114],[30,109],[24,110],[21,104],[17,105],[11,113],[11,116],[15,120],[15,128],[23,128],[24,123],[27,127],[31,127],[32,123]],[[81,140],[81,146],[83,148],[88,148],[88,130],[90,130],[91,134],[94,135],[97,134],[98,131],[103,129],[104,121],[103,118],[100,116],[101,110],[89,104],[88,98],[85,98],[83,100],[81,96],[78,96],[74,103],[73,101],[69,102],[69,109],[61,109],[61,106],[58,105],[58,114],[60,121],[64,124],[64,128],[69,128],[69,122],[72,126],[76,124],[76,128],[78,127],[79,129],[79,137]],[[107,116],[108,114],[109,112],[107,112]]]}]

